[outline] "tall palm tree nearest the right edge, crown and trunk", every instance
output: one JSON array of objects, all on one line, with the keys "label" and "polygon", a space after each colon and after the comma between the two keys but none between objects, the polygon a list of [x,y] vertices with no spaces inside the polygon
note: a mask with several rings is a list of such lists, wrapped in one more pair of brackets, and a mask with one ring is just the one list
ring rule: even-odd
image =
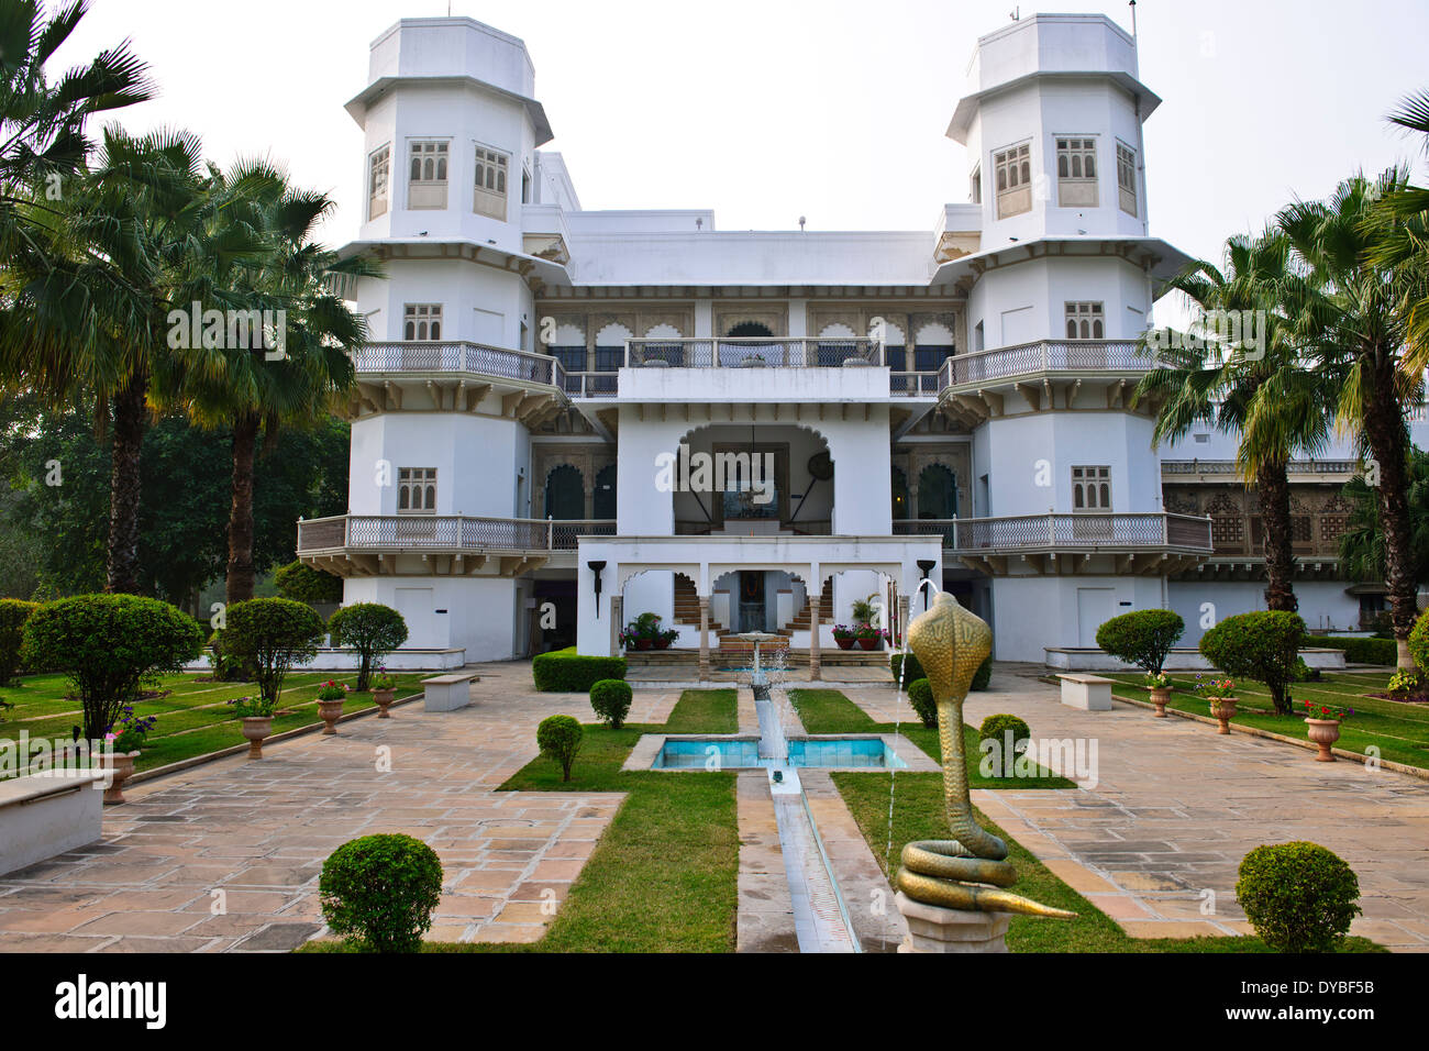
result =
[{"label": "tall palm tree nearest the right edge, crown and trunk", "polygon": [[[1278,223],[1309,269],[1313,293],[1295,316],[1296,336],[1313,366],[1335,385],[1336,426],[1353,436],[1378,475],[1389,589],[1399,666],[1413,668],[1418,585],[1408,502],[1409,429],[1405,408],[1423,396],[1422,367],[1408,346],[1408,305],[1423,292],[1423,267],[1375,263],[1409,227],[1380,202],[1402,194],[1406,174],[1390,167],[1378,179],[1356,174],[1323,202],[1299,202]],[[1375,480],[1375,479],[1372,479]]]}]

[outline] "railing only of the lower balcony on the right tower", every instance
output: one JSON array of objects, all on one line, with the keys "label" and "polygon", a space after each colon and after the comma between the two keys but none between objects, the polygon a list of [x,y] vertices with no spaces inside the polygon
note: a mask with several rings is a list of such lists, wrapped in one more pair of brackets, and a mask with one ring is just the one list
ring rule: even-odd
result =
[{"label": "railing only of the lower balcony on the right tower", "polygon": [[1210,553],[1210,519],[1167,513],[1017,515],[895,520],[899,536],[942,536],[945,551],[1137,551],[1186,548]]}]

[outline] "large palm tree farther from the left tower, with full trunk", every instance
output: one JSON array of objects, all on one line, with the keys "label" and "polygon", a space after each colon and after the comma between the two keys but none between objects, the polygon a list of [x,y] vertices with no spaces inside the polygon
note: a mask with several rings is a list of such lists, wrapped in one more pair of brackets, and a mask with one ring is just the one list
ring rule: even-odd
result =
[{"label": "large palm tree farther from the left tower, with full trunk", "polygon": [[223,222],[244,187],[207,179],[200,150],[186,133],[107,129],[96,167],[37,216],[33,247],[4,270],[0,375],[50,398],[90,390],[97,428],[113,426],[107,591],[139,589],[139,458],[151,410],[226,370],[220,347],[170,346],[171,315],[233,305],[234,269],[264,249]]}]

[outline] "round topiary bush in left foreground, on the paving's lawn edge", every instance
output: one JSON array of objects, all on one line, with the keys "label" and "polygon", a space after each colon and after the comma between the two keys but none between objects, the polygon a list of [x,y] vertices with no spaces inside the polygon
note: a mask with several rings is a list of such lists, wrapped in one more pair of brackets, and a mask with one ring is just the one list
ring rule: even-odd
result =
[{"label": "round topiary bush in left foreground, on the paving's lawn edge", "polygon": [[317,889],[334,934],[373,952],[412,952],[442,899],[442,859],[410,835],[364,835],[327,857]]}]

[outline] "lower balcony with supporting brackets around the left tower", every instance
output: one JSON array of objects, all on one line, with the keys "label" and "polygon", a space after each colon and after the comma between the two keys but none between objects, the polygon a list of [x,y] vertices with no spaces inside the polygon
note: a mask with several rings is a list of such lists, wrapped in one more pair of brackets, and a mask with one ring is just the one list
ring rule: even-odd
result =
[{"label": "lower balcony with supporting brackets around the left tower", "polygon": [[580,538],[614,531],[614,519],[337,515],[297,523],[297,556],[339,576],[520,576],[574,565]]}]

